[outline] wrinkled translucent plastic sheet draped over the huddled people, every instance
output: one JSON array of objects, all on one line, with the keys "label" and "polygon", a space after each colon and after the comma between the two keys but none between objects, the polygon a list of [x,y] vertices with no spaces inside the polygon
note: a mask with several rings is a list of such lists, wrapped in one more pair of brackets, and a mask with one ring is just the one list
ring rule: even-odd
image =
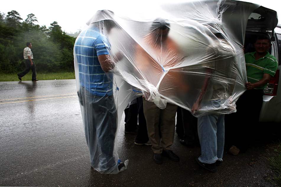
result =
[{"label": "wrinkled translucent plastic sheet draped over the huddled people", "polygon": [[[93,28],[108,39],[115,67],[105,74],[104,84],[113,81],[112,102],[115,105],[104,105],[89,97],[87,89],[81,91],[93,84],[87,74],[81,77],[81,68],[94,74],[92,66],[95,64],[87,58],[89,54],[82,54],[86,58],[78,62],[81,56],[77,56],[74,46],[77,91],[82,98],[80,104],[84,101],[86,105],[110,107],[108,112],[118,113],[119,123],[128,103],[143,94],[159,108],[165,108],[169,102],[189,111],[201,97],[199,108],[194,112],[197,117],[235,112],[235,102],[246,90],[243,53],[246,24],[251,12],[258,7],[241,1],[196,1],[155,7],[155,12],[159,13],[157,17],[165,19],[170,29],[167,37],[153,22],[157,17],[130,19],[109,11],[94,15],[77,40],[89,38],[87,34]],[[112,25],[114,28],[110,29]],[[79,63],[84,66],[79,66]],[[106,155],[102,151],[103,146],[111,149],[105,134],[116,137],[116,129],[101,129],[104,123],[108,123],[105,118],[100,118],[103,113],[93,113],[91,107],[82,104],[81,110],[86,116],[83,121],[92,167],[102,173],[117,173],[117,145],[113,154]],[[106,168],[109,167],[109,157],[113,157],[110,169]]]}]

